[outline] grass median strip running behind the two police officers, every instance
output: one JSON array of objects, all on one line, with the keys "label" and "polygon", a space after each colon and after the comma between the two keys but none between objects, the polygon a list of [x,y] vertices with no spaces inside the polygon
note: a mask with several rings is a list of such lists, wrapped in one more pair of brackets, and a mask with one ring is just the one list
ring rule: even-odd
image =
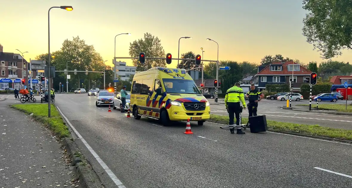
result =
[{"label": "grass median strip running behind the two police officers", "polygon": [[[210,114],[210,120],[228,124],[229,118],[226,115]],[[248,118],[242,118],[242,124],[246,124]],[[340,140],[352,140],[352,130],[333,129],[322,127],[320,125],[304,125],[295,123],[285,123],[272,120],[266,120],[268,130],[276,132],[292,132],[311,136],[336,138]]]}]

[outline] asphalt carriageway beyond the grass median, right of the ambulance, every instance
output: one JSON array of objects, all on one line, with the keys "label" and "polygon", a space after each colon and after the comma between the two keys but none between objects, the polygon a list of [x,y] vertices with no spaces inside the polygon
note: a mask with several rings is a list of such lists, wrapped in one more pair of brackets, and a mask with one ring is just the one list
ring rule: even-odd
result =
[{"label": "asphalt carriageway beyond the grass median, right of the ambulance", "polygon": [[[220,102],[220,101],[219,101]],[[348,101],[351,102],[351,101]],[[246,100],[246,104],[248,101]],[[309,104],[309,101],[293,101],[293,106],[297,104]],[[319,104],[336,104],[336,102],[319,102]],[[318,104],[318,105],[319,105]],[[349,103],[350,104],[350,103]],[[300,112],[292,111],[288,109],[278,108],[279,106],[286,106],[286,101],[272,101],[272,100],[262,100],[259,101],[258,105],[258,115],[265,115],[266,119],[298,123],[298,124],[308,124],[308,125],[321,125],[325,127],[332,127],[338,129],[348,129],[352,130],[352,116],[351,115],[334,115],[334,114],[322,114],[311,112]],[[298,106],[300,108],[307,108],[307,106]],[[316,107],[316,103],[312,103],[312,107]],[[319,107],[319,106],[318,106]],[[228,115],[225,104],[211,105],[210,111],[212,114],[217,115]],[[244,110],[242,113],[243,117],[248,117],[248,110]]]}]

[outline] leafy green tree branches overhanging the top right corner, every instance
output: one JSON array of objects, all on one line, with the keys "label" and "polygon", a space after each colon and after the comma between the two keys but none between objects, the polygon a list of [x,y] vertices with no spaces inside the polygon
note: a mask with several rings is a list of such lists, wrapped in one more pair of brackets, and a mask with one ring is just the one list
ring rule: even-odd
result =
[{"label": "leafy green tree branches overhanging the top right corner", "polygon": [[303,0],[308,11],[303,19],[303,36],[325,59],[352,49],[352,2],[347,0]]}]

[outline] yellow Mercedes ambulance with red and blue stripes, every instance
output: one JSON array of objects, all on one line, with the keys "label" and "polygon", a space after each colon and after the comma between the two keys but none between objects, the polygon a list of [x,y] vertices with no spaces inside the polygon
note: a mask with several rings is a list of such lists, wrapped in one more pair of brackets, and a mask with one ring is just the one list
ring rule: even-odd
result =
[{"label": "yellow Mercedes ambulance with red and blue stripes", "polygon": [[186,69],[153,67],[136,72],[131,87],[130,110],[134,119],[142,116],[170,121],[197,121],[210,118],[210,105]]}]

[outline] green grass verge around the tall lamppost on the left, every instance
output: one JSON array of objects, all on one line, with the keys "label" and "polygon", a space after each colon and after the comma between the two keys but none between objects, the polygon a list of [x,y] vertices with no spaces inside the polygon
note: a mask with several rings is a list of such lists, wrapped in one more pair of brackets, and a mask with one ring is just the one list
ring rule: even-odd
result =
[{"label": "green grass verge around the tall lamppost on the left", "polygon": [[61,115],[54,105],[51,105],[50,109],[51,118],[48,118],[48,104],[16,104],[11,107],[27,114],[33,113],[32,116],[36,120],[49,125],[50,129],[54,131],[58,137],[71,137],[68,127],[65,125]]}]

